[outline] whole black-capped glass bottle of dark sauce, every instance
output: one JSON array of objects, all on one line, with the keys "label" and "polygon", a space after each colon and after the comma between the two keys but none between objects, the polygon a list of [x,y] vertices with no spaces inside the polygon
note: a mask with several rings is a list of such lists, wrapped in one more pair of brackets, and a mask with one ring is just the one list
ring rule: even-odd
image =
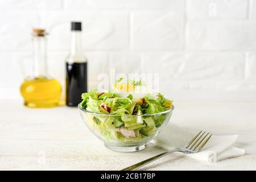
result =
[{"label": "whole black-capped glass bottle of dark sauce", "polygon": [[87,92],[87,58],[82,53],[81,22],[71,22],[71,52],[66,59],[66,105],[77,106]]}]

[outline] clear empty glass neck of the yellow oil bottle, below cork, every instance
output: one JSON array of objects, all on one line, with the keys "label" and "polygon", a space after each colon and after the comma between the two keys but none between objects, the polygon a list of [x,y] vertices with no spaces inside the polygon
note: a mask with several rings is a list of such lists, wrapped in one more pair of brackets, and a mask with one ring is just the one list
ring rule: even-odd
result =
[{"label": "clear empty glass neck of the yellow oil bottle, below cork", "polygon": [[48,72],[45,36],[33,36],[33,56],[35,77],[47,76]]}]

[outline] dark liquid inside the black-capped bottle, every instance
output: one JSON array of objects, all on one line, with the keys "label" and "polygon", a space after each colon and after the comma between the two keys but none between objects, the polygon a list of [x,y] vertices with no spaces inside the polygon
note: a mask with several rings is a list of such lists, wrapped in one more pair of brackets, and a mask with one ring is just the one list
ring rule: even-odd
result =
[{"label": "dark liquid inside the black-capped bottle", "polygon": [[66,63],[66,105],[77,106],[87,92],[87,63]]}]

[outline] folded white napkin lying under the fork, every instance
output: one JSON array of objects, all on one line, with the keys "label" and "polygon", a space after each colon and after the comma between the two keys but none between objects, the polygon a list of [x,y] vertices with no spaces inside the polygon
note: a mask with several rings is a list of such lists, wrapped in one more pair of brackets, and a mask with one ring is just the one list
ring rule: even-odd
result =
[{"label": "folded white napkin lying under the fork", "polygon": [[[158,137],[155,138],[155,143],[167,150],[183,147],[195,137],[198,132],[199,131],[191,132],[173,123],[169,123]],[[186,155],[208,163],[244,155],[245,150],[233,147],[237,138],[238,135],[212,135],[200,152]]]}]

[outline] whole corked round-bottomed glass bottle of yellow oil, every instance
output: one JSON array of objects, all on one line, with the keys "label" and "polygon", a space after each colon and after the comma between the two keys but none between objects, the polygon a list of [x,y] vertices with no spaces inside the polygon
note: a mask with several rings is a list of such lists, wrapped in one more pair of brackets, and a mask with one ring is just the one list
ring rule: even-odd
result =
[{"label": "whole corked round-bottomed glass bottle of yellow oil", "polygon": [[20,93],[27,107],[53,107],[60,105],[60,82],[50,77],[46,61],[46,31],[33,29],[33,75],[26,77]]}]

